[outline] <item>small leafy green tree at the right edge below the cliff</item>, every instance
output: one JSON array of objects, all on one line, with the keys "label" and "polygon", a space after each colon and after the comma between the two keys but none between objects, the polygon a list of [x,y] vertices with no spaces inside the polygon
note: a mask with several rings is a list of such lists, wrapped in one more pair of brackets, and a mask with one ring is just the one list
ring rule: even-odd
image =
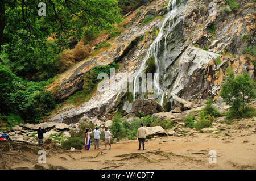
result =
[{"label": "small leafy green tree at the right edge below the cliff", "polygon": [[231,109],[237,110],[239,115],[239,108],[242,107],[245,112],[246,104],[255,99],[255,82],[248,73],[237,75],[235,78],[232,72],[221,86],[220,96]]}]

